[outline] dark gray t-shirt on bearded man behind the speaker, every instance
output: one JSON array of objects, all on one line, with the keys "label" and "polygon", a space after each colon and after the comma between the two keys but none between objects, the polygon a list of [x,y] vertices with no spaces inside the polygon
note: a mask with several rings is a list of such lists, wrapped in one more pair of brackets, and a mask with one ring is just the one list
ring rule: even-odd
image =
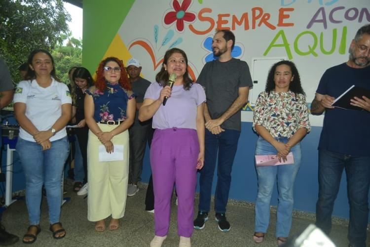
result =
[{"label": "dark gray t-shirt on bearded man behind the speaker", "polygon": [[[214,60],[204,65],[197,83],[206,90],[207,107],[212,119],[219,118],[236,100],[239,87],[253,86],[248,64],[232,58],[227,62]],[[221,127],[241,130],[240,111],[227,119]]]}]

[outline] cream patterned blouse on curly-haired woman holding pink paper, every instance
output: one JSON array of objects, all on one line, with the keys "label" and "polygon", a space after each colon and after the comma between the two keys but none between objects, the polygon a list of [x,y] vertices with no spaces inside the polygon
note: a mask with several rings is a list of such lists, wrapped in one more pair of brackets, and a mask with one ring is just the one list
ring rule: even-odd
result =
[{"label": "cream patterned blouse on curly-haired woman holding pink paper", "polygon": [[265,127],[273,137],[291,138],[302,127],[309,132],[311,126],[304,95],[292,91],[270,91],[269,95],[261,92],[253,113],[254,130],[256,125]]}]

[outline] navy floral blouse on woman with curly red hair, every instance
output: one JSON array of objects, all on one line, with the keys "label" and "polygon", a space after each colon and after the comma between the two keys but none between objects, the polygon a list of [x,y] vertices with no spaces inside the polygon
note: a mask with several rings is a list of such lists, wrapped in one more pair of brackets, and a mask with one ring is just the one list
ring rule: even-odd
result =
[{"label": "navy floral blouse on woman with curly red hair", "polygon": [[86,90],[86,93],[94,99],[94,119],[96,122],[125,120],[127,101],[135,97],[132,91],[125,90],[119,84],[108,82],[104,91],[93,86]]}]

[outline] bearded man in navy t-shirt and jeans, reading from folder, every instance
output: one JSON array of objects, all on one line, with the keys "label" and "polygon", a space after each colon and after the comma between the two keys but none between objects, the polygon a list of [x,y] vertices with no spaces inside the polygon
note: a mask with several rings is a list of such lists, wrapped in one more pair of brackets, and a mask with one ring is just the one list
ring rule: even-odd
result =
[{"label": "bearded man in navy t-shirt and jeans, reading from folder", "polygon": [[332,230],[332,213],[343,169],[347,177],[350,246],[365,247],[369,219],[370,99],[359,96],[351,105],[362,111],[332,106],[350,86],[370,90],[370,24],[361,27],[349,47],[347,62],[329,68],[317,87],[311,113],[325,111],[319,142],[319,198],[316,225],[326,234]]}]

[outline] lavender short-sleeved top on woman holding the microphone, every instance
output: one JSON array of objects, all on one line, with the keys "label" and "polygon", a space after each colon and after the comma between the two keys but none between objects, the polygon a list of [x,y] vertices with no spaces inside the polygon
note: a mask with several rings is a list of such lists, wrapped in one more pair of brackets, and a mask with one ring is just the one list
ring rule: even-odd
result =
[{"label": "lavender short-sleeved top on woman holding the microphone", "polygon": [[[157,100],[163,89],[158,82],[153,82],[148,87],[144,99]],[[165,106],[160,105],[153,116],[153,128],[192,128],[196,130],[197,106],[206,101],[206,94],[201,85],[193,83],[189,90],[183,85],[174,85],[171,97]]]}]

